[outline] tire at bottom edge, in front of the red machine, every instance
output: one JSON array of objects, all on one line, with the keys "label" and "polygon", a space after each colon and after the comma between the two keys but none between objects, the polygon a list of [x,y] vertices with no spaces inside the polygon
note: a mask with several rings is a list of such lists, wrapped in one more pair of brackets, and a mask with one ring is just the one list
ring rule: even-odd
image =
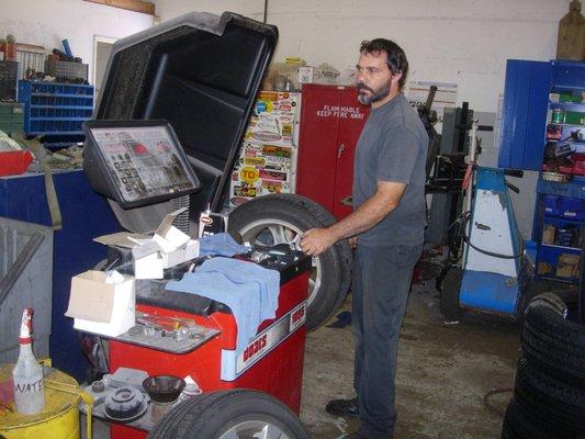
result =
[{"label": "tire at bottom edge, in front of the red machine", "polygon": [[256,437],[310,438],[301,420],[277,398],[262,392],[233,390],[203,393],[182,402],[155,425],[147,439]]}]

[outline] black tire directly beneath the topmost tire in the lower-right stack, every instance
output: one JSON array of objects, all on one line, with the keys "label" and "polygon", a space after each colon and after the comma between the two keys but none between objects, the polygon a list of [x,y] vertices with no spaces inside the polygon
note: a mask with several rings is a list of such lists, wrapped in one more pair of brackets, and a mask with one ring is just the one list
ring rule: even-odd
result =
[{"label": "black tire directly beneath the topmost tire in the lower-right stack", "polygon": [[516,368],[514,397],[525,409],[555,429],[585,431],[585,392],[554,380],[520,359]]}]

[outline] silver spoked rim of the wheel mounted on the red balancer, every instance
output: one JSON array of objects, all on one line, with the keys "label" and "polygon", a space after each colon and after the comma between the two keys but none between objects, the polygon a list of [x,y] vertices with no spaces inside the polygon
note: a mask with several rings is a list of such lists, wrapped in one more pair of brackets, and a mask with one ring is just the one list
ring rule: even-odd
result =
[{"label": "silver spoked rim of the wheel mounted on the red balancer", "polygon": [[[277,244],[288,244],[301,250],[303,232],[299,227],[282,219],[262,218],[246,225],[239,233],[244,240],[251,245],[273,246]],[[308,278],[308,304],[313,302],[320,288],[322,272],[320,258],[312,258]]]}]

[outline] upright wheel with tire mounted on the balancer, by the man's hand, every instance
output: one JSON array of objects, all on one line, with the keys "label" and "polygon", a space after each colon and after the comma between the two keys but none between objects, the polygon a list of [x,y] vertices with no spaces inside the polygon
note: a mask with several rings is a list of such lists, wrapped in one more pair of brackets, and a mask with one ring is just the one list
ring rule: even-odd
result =
[{"label": "upright wheel with tire mounted on the balancer, by the man's hand", "polygon": [[[269,194],[248,201],[229,214],[229,232],[260,245],[293,244],[300,249],[303,232],[326,227],[335,217],[318,203],[301,195]],[[313,258],[307,294],[308,330],[323,325],[339,308],[351,283],[351,249],[342,239]]]}]

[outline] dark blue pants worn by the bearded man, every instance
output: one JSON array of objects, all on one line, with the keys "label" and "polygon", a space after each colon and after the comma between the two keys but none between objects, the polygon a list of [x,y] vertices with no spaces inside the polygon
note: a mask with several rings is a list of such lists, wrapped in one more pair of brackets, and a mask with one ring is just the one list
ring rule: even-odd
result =
[{"label": "dark blue pants worn by the bearded man", "polygon": [[360,432],[369,439],[389,439],[394,432],[398,335],[420,252],[421,246],[358,245],[356,250],[351,293],[353,387],[359,396]]}]

